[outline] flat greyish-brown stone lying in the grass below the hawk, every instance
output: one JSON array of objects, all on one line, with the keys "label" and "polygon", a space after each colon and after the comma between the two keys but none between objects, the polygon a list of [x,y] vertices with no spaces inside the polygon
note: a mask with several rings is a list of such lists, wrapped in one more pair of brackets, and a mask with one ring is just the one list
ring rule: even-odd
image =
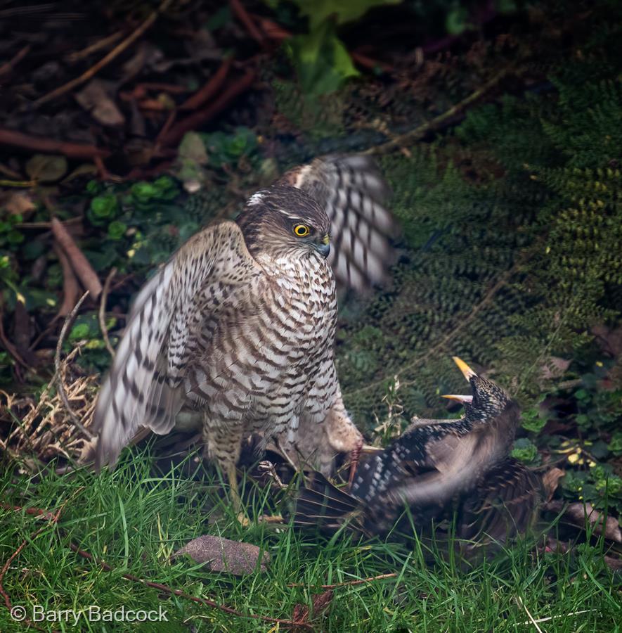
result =
[{"label": "flat greyish-brown stone lying in the grass below the hawk", "polygon": [[188,554],[195,563],[205,563],[210,571],[228,572],[238,576],[254,573],[260,555],[260,571],[266,571],[270,563],[268,552],[264,551],[261,554],[261,549],[257,545],[212,535],[193,539],[178,549],[171,558],[177,558],[181,554]]}]

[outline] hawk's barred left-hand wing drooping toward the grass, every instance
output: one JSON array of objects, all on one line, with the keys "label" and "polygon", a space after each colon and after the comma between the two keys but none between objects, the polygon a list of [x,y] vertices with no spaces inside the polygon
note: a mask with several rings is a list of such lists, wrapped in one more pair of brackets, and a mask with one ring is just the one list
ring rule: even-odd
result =
[{"label": "hawk's barred left-hand wing drooping toward the grass", "polygon": [[227,288],[260,271],[238,225],[221,222],[190,238],[138,293],[95,408],[97,468],[114,465],[139,428],[171,429],[200,324]]}]

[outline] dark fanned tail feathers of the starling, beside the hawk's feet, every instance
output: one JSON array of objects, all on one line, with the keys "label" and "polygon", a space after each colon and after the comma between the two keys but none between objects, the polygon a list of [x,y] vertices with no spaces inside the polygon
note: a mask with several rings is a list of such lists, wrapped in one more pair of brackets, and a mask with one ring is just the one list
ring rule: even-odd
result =
[{"label": "dark fanned tail feathers of the starling, beside the hawk's feet", "polygon": [[356,497],[339,490],[322,473],[314,471],[298,492],[294,525],[337,530],[360,508]]}]

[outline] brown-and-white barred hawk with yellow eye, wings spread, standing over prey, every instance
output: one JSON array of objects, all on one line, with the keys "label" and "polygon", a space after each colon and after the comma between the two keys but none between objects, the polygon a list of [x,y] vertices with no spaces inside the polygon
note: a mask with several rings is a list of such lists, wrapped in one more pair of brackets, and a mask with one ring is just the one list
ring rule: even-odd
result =
[{"label": "brown-and-white barred hawk with yellow eye, wings spread, standing over prey", "polygon": [[236,222],[184,244],[138,294],[101,388],[97,466],[114,464],[141,427],[167,433],[183,406],[202,411],[207,455],[234,495],[242,435],[280,439],[303,458],[313,445],[297,446],[299,433],[324,453],[360,444],[333,362],[329,262],[347,286],[384,279],[386,194],[367,158],[318,159],[251,196]]}]

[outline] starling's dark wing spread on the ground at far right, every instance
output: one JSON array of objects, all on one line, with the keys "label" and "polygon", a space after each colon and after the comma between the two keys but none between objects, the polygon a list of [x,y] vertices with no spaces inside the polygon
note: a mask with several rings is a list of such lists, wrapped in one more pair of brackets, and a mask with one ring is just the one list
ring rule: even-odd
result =
[{"label": "starling's dark wing spread on the ground at far right", "polygon": [[521,462],[500,461],[465,499],[458,536],[482,544],[524,534],[536,516],[540,490],[538,477]]}]

